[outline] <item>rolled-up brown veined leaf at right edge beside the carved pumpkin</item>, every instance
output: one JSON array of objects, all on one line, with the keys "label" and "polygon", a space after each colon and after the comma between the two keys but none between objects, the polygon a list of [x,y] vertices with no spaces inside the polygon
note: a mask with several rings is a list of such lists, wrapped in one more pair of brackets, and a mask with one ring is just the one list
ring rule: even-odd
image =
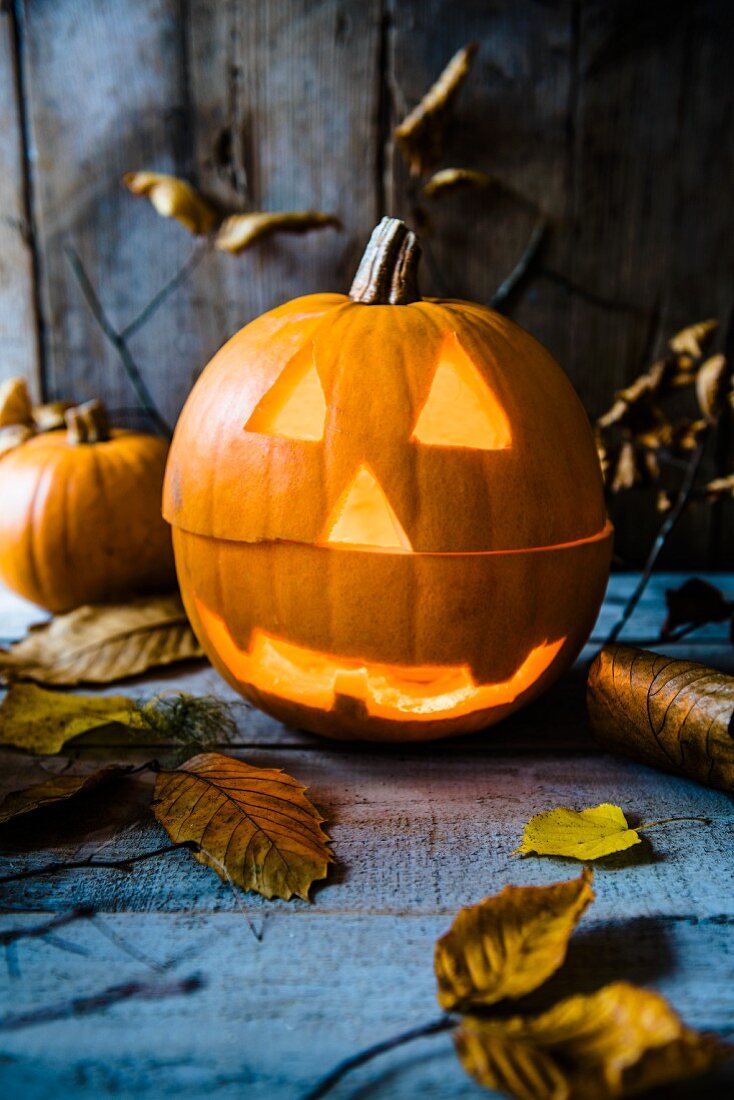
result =
[{"label": "rolled-up brown veined leaf at right edge beside the carved pumpkin", "polygon": [[631,646],[604,646],[587,691],[594,736],[613,752],[734,790],[734,676]]}]

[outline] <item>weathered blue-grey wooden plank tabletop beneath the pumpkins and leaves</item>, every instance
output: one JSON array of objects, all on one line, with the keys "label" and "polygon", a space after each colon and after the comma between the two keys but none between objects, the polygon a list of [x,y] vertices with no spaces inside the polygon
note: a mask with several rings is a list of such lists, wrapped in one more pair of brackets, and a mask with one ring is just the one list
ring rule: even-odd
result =
[{"label": "weathered blue-grey wooden plank tabletop beneath the pumpkins and leaves", "polygon": [[[712,580],[730,593],[734,586],[731,576]],[[303,1096],[341,1058],[437,1015],[434,942],[459,906],[506,882],[578,873],[571,860],[512,855],[524,822],[561,804],[610,801],[635,821],[699,815],[711,824],[656,829],[650,843],[598,865],[598,900],[554,979],[559,994],[626,978],[660,990],[697,1027],[734,1031],[732,799],[599,752],[585,725],[584,661],[634,581],[612,579],[574,670],[485,735],[427,747],[333,744],[238,701],[239,735],[223,751],[285,768],[308,784],[328,818],[338,864],[310,905],[234,897],[183,850],[127,871],[78,869],[6,883],[0,933],[80,906],[90,906],[90,915],[44,936],[2,941],[0,1094]],[[677,583],[654,579],[625,637],[656,636],[664,590]],[[37,609],[0,595],[3,638],[21,636],[37,618]],[[706,627],[668,651],[728,671],[734,664],[723,627]],[[234,700],[204,663],[142,676],[123,690],[151,694],[163,686]],[[88,739],[74,757],[143,761],[155,751]],[[2,792],[64,765],[6,750]],[[54,836],[30,824],[3,833],[2,876],[166,846],[149,810],[151,782],[143,773],[117,796],[112,788],[90,796]],[[95,1000],[128,982],[160,996]],[[724,1068],[665,1096],[701,1100],[733,1088],[734,1072]],[[439,1035],[371,1062],[332,1094],[468,1100],[487,1093],[464,1077],[450,1038]]]}]

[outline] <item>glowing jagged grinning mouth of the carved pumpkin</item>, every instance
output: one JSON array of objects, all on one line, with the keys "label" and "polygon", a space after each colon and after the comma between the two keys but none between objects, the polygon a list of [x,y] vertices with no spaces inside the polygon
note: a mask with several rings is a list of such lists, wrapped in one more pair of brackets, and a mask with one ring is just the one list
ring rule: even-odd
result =
[{"label": "glowing jagged grinning mouth of the carved pumpkin", "polygon": [[259,692],[330,711],[340,695],[395,722],[458,718],[513,703],[550,667],[566,641],[535,646],[510,679],[476,684],[465,666],[398,666],[336,657],[254,630],[241,649],[226,623],[195,597],[201,625],[231,675]]}]

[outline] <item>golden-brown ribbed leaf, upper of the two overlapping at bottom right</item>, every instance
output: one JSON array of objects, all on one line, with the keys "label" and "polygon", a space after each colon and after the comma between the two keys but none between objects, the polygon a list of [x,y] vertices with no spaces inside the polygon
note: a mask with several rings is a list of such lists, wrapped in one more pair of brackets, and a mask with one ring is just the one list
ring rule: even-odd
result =
[{"label": "golden-brown ribbed leaf, upper of the two overlapping at bottom right", "polygon": [[592,872],[548,887],[507,886],[459,910],[436,944],[438,1001],[447,1011],[518,998],[543,985],[593,901]]}]

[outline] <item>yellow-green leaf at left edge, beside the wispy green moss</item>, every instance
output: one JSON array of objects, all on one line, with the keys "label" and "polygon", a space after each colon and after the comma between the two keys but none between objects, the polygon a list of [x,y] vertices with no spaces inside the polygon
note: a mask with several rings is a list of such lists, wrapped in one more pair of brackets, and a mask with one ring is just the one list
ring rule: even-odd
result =
[{"label": "yellow-green leaf at left edge, beside the wispy green moss", "polygon": [[136,725],[133,700],[124,695],[66,695],[35,684],[13,684],[0,705],[0,745],[52,756],[73,737],[110,723]]}]

